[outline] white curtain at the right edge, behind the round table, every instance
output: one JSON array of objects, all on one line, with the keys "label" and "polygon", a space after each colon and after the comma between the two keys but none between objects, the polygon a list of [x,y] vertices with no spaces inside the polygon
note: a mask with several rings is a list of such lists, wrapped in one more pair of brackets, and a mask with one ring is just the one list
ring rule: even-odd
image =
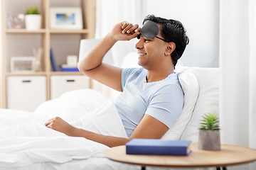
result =
[{"label": "white curtain at the right edge, behind the round table", "polygon": [[[220,0],[221,142],[254,149],[256,149],[255,24],[255,0]],[[256,166],[251,164],[242,169],[256,169]]]}]

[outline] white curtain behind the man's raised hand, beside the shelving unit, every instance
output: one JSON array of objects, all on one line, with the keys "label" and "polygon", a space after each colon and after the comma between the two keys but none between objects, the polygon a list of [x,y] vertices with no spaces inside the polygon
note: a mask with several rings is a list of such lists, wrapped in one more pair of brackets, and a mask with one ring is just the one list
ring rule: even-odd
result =
[{"label": "white curtain behind the man's raised hand, beside the shelving unit", "polygon": [[[97,0],[95,38],[103,38],[112,27],[121,22],[137,23],[142,26],[142,0]],[[120,66],[128,52],[136,51],[137,40],[117,42],[112,47],[114,64]]]}]

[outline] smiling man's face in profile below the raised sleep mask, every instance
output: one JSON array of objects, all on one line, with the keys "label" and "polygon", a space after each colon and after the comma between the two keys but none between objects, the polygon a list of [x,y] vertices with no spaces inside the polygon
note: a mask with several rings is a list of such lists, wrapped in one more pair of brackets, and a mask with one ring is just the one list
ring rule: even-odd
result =
[{"label": "smiling man's face in profile below the raised sleep mask", "polygon": [[[157,36],[162,38],[160,31]],[[139,42],[135,45],[138,50],[138,64],[144,69],[150,70],[161,67],[167,42],[159,38],[144,38],[143,35],[140,35]]]}]

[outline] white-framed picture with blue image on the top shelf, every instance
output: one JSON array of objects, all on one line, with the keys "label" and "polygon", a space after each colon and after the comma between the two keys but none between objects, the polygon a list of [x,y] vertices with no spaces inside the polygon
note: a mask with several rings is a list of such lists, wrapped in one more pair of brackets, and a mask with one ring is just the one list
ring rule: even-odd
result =
[{"label": "white-framed picture with blue image on the top shelf", "polygon": [[51,29],[82,29],[82,10],[79,7],[50,8]]}]

